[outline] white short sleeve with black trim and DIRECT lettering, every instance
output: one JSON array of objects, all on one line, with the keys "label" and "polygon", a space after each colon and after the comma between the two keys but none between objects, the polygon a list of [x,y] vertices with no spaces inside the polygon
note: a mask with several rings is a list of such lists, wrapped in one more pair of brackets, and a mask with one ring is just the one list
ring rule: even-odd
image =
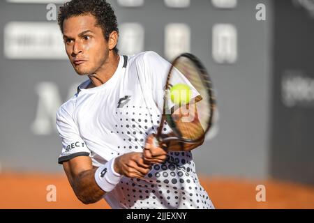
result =
[{"label": "white short sleeve with black trim and DIRECT lettering", "polygon": [[80,137],[77,125],[69,113],[72,112],[69,104],[63,104],[56,116],[57,130],[62,141],[62,151],[58,159],[59,164],[77,156],[89,156],[91,154]]}]

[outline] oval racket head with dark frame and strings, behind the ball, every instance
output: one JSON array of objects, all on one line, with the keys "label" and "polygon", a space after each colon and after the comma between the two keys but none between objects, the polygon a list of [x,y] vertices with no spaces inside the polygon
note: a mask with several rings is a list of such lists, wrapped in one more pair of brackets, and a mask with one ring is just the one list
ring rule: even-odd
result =
[{"label": "oval racket head with dark frame and strings, behind the ball", "polygon": [[[179,100],[180,104],[176,104],[172,100],[172,87],[178,86],[177,84],[188,86],[188,93],[184,96],[186,98],[186,95],[190,95],[188,101],[181,103]],[[204,140],[204,135],[212,125],[216,100],[209,74],[193,54],[181,54],[172,62],[165,83],[163,107],[162,120],[156,134],[158,141],[175,140],[194,144]],[[178,116],[177,112],[188,116]],[[162,134],[165,121],[173,131],[170,137],[163,137]]]}]

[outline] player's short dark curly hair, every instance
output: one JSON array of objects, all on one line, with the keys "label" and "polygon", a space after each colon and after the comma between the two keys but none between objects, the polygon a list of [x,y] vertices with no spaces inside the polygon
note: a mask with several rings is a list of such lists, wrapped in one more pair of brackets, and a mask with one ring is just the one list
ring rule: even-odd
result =
[{"label": "player's short dark curly hair", "polygon": [[[58,15],[58,24],[61,32],[63,33],[64,20],[87,14],[96,17],[96,25],[103,29],[105,40],[109,40],[109,35],[112,31],[119,33],[117,17],[114,15],[114,10],[110,3],[107,3],[105,0],[72,0],[64,3],[60,7]],[[114,52],[118,53],[117,47],[114,47]]]}]

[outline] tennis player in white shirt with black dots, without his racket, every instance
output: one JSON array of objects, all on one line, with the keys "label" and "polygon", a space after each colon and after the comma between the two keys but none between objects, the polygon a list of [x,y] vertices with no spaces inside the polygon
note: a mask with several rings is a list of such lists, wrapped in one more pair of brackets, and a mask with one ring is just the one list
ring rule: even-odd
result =
[{"label": "tennis player in white shirt with black dots, without his racket", "polygon": [[119,55],[117,17],[105,0],[69,1],[58,19],[70,63],[89,77],[57,112],[59,164],[77,198],[112,208],[214,208],[197,178],[196,146],[154,144],[170,63],[155,52]]}]

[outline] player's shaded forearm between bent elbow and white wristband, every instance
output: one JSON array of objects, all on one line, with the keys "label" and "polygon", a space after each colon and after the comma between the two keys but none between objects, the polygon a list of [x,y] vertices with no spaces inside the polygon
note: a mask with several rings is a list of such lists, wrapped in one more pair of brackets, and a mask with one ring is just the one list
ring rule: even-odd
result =
[{"label": "player's shaded forearm between bent elbow and white wristband", "polygon": [[95,171],[96,169],[83,171],[73,182],[73,190],[77,198],[84,204],[96,203],[105,194],[96,183]]}]

